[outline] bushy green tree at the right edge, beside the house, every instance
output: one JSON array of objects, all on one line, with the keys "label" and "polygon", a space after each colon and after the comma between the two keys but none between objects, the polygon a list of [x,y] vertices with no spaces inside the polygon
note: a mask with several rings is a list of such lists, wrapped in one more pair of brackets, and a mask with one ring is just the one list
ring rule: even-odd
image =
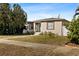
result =
[{"label": "bushy green tree at the right edge, beside the house", "polygon": [[[79,11],[79,9],[77,9]],[[69,33],[68,37],[71,39],[72,43],[79,44],[79,16],[76,18],[76,16],[79,15],[78,13],[75,14],[73,17],[73,20],[68,26]]]}]

